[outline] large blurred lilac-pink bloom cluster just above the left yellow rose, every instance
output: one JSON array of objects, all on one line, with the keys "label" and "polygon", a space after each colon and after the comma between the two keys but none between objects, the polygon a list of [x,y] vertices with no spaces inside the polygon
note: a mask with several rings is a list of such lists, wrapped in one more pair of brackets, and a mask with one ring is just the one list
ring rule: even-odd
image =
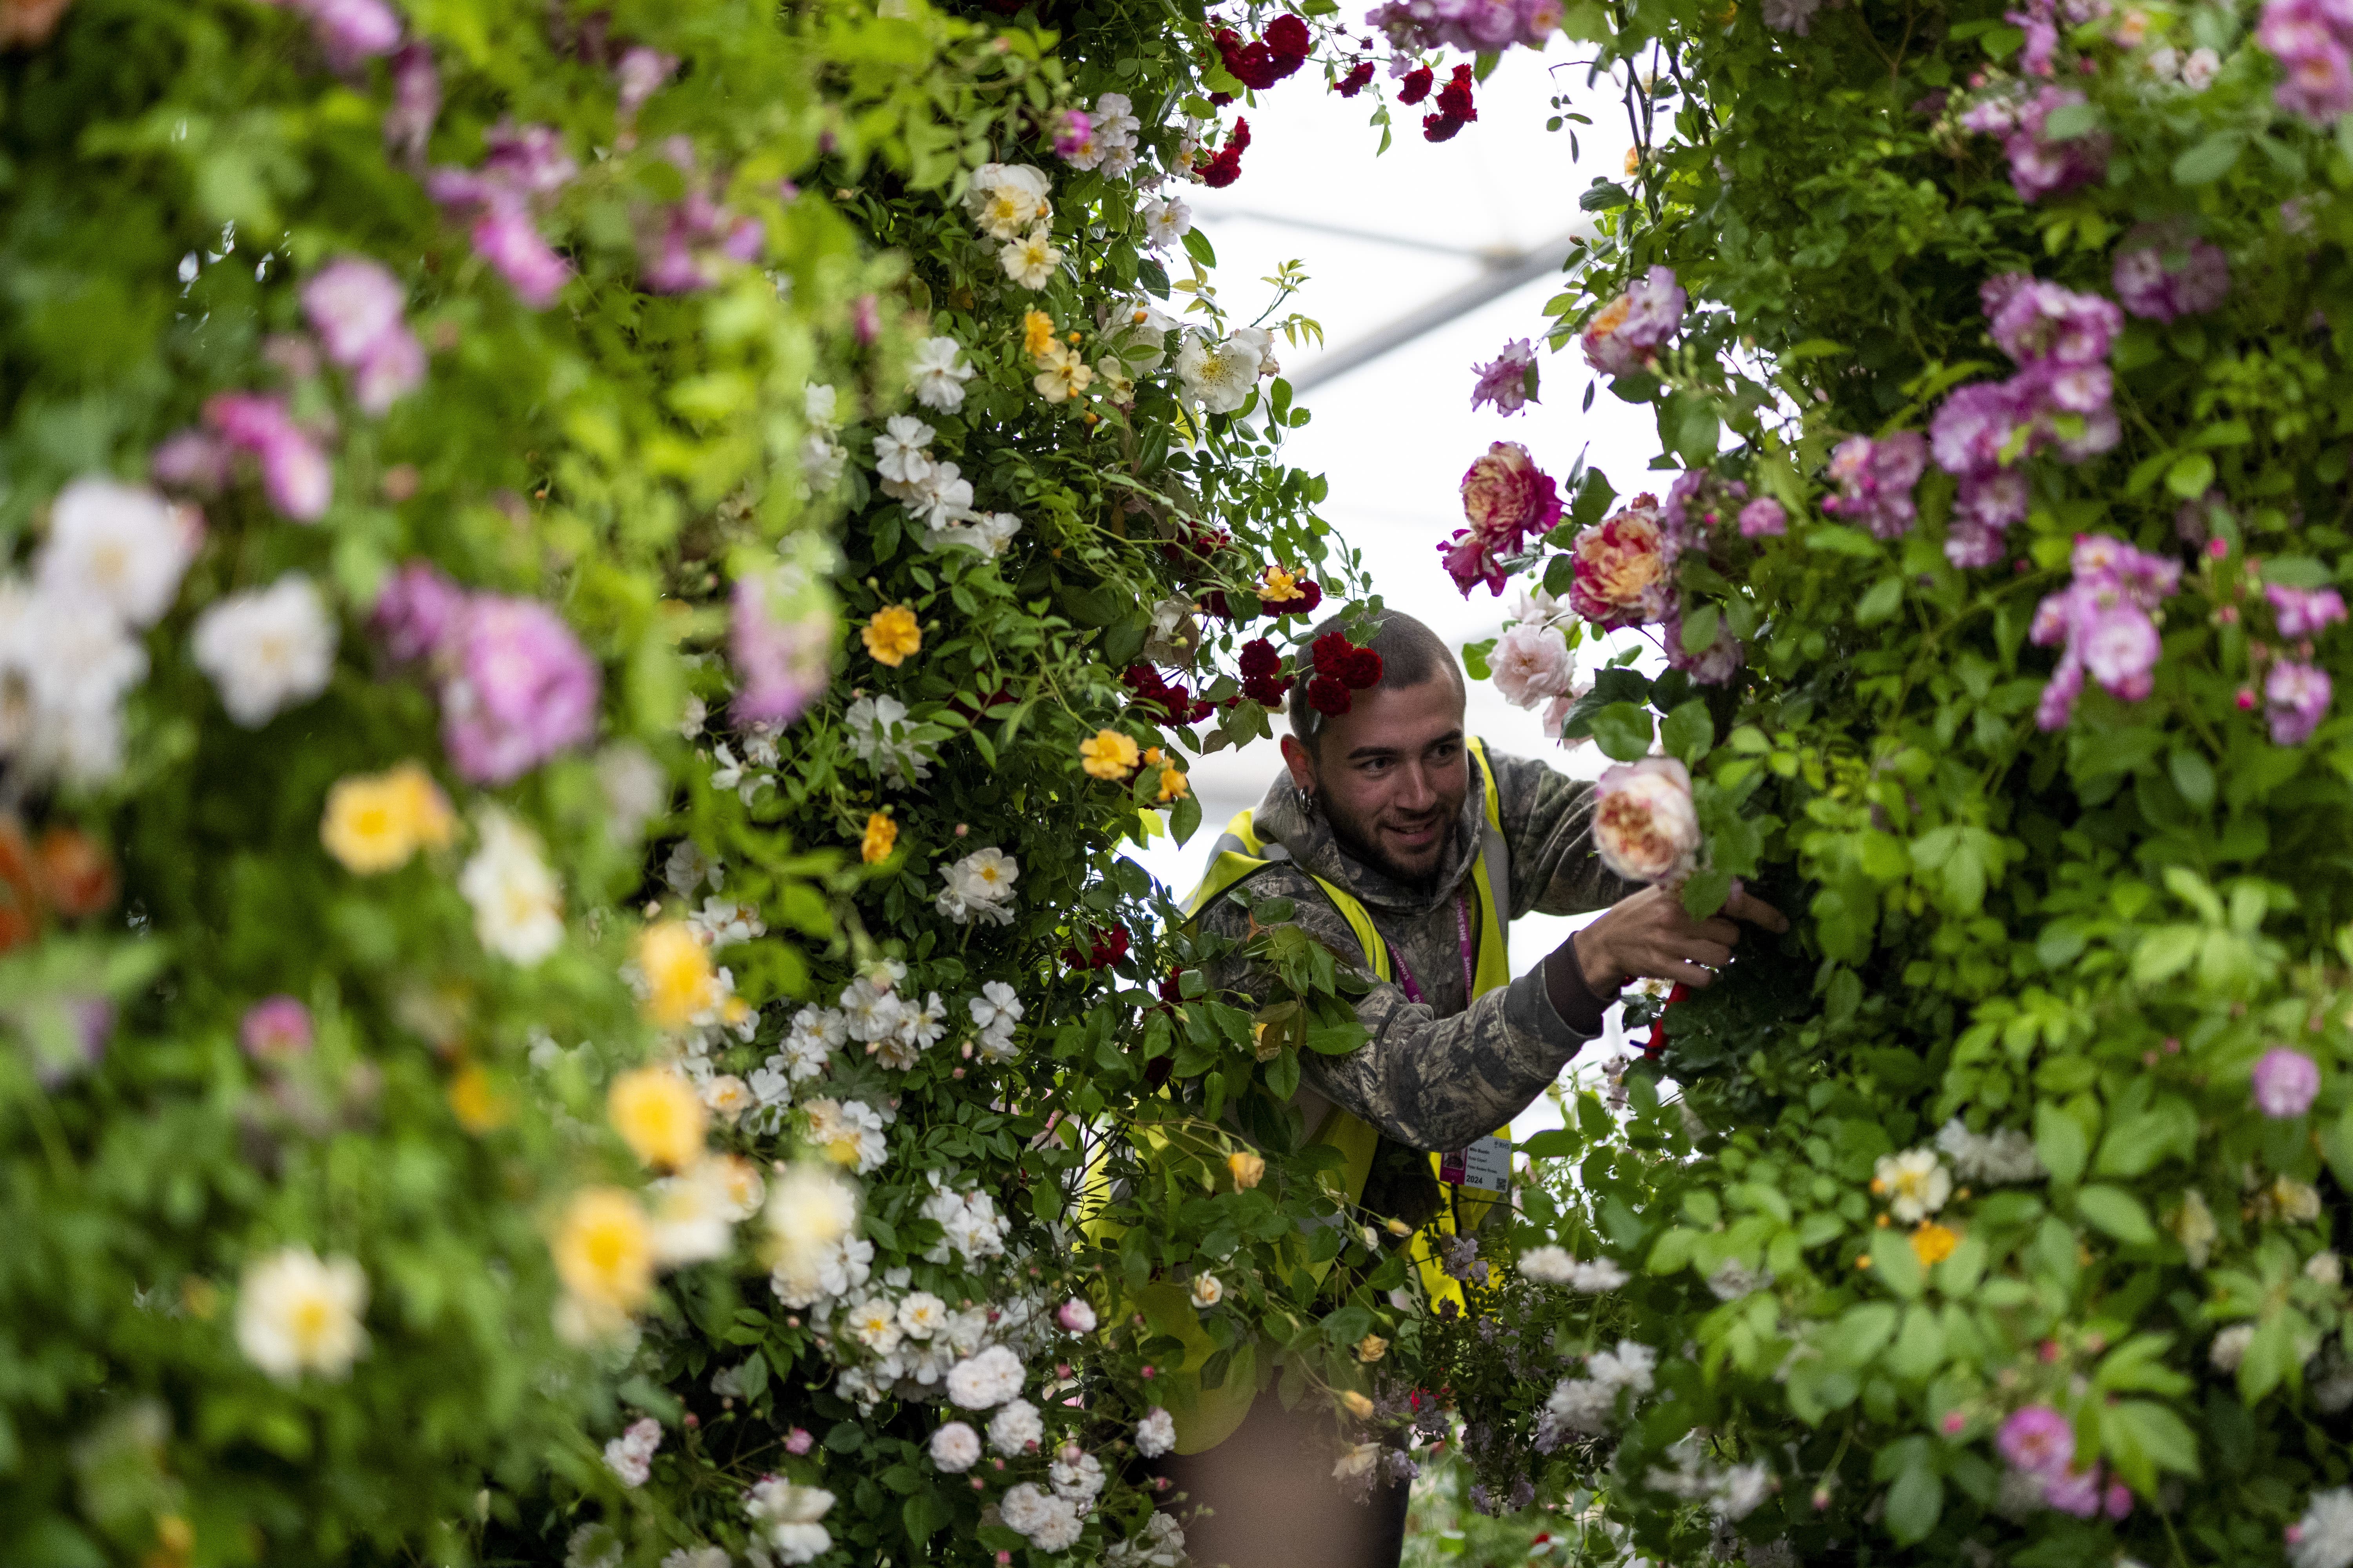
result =
[{"label": "large blurred lilac-pink bloom cluster just above the left yellow rose", "polygon": [[471,783],[511,783],[595,733],[598,665],[536,599],[466,592],[431,562],[409,562],[369,625],[395,661],[433,670],[442,748]]}]

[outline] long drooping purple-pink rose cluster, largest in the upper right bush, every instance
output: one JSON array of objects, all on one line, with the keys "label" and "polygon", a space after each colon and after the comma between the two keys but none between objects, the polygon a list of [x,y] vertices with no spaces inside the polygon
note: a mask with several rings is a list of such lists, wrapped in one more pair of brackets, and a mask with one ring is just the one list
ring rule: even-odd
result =
[{"label": "long drooping purple-pink rose cluster, largest in the upper right bush", "polygon": [[2002,534],[2026,517],[2028,454],[2052,447],[2080,463],[2122,435],[2108,402],[2108,346],[2125,329],[2115,303],[2026,273],[1988,277],[1979,299],[2019,374],[1955,388],[1929,421],[1937,465],[1960,480],[1944,541],[1955,567],[2002,559]]}]

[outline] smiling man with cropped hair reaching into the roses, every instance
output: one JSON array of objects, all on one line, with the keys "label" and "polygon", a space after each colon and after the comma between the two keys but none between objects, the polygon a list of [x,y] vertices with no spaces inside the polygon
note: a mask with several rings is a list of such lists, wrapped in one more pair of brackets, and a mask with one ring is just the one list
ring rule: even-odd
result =
[{"label": "smiling man with cropped hair reaching into the roses", "polygon": [[[1315,632],[1346,628],[1348,616],[1334,616]],[[1675,891],[1609,875],[1588,830],[1593,785],[1541,762],[1475,752],[1464,736],[1461,668],[1431,628],[1388,611],[1369,646],[1381,679],[1355,691],[1348,712],[1325,717],[1306,701],[1304,679],[1292,686],[1287,776],[1247,820],[1235,818],[1212,853],[1205,891],[1247,875],[1252,900],[1294,900],[1297,924],[1372,983],[1355,1009],[1369,1039],[1348,1056],[1306,1056],[1294,1105],[1325,1143],[1351,1147],[1348,1128],[1358,1128],[1365,1208],[1417,1227],[1435,1215],[1449,1225],[1466,1213],[1464,1194],[1478,1194],[1468,1208],[1482,1211],[1485,1194],[1506,1187],[1508,1152],[1492,1133],[1600,1034],[1619,990],[1635,978],[1708,985],[1732,961],[1739,926],[1694,922]],[[1511,978],[1506,922],[1605,905],[1537,969]],[[1744,893],[1727,914],[1788,929]],[[1202,914],[1221,936],[1240,936],[1245,922],[1224,898]],[[1278,999],[1268,976],[1240,964],[1209,983]],[[1414,1237],[1421,1253],[1431,1234]],[[1195,1563],[1398,1561],[1407,1488],[1391,1481],[1374,1488],[1369,1507],[1348,1502],[1332,1479],[1327,1420],[1306,1406],[1285,1413],[1261,1394],[1231,1434],[1212,1425],[1191,1443],[1184,1436],[1162,1474],[1188,1495],[1179,1514]]]}]

